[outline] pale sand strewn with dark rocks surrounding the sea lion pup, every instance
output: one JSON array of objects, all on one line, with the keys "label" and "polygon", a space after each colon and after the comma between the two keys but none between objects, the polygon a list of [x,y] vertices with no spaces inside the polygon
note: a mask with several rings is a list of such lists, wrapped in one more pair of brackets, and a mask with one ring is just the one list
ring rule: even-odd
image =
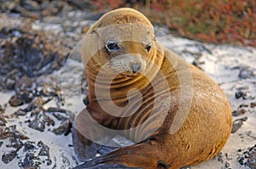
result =
[{"label": "pale sand strewn with dark rocks surrounding the sea lion pup", "polygon": [[[70,131],[86,95],[79,42],[101,13],[79,1],[0,2],[0,168],[72,168]],[[163,45],[218,82],[233,110],[221,153],[187,168],[256,168],[256,49],[155,29]]]}]

